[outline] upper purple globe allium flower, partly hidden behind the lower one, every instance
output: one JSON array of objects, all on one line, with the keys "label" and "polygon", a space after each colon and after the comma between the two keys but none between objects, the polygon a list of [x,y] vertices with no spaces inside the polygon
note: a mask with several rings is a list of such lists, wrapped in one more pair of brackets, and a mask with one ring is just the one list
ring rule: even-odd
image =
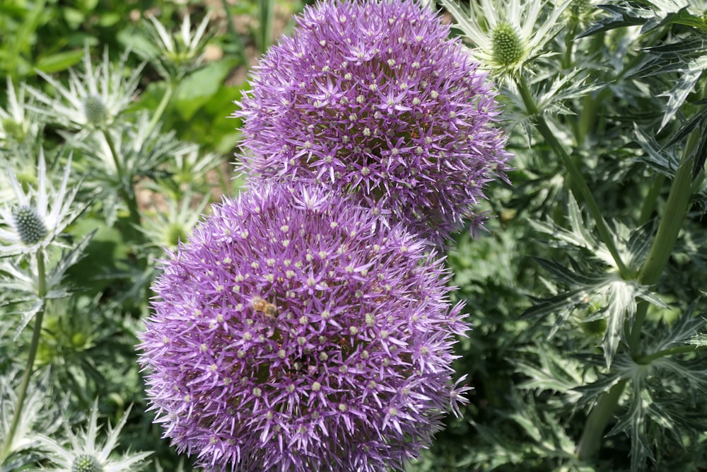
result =
[{"label": "upper purple globe allium flower, partly hidden behind the lower one", "polygon": [[244,170],[387,207],[436,243],[483,220],[505,138],[485,74],[416,1],[324,1],[261,59],[238,103]]}]

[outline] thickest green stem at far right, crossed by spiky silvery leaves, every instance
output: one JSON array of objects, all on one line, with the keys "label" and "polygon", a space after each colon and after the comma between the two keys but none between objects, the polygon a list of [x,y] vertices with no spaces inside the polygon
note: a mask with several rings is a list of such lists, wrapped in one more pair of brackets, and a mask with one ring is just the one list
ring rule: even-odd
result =
[{"label": "thickest green stem at far right, crossed by spiky silvery leaves", "polygon": [[[689,209],[692,173],[692,159],[689,158],[698,143],[699,131],[696,130],[688,139],[682,155],[682,162],[670,186],[670,194],[667,197],[665,212],[660,220],[658,232],[655,234],[653,245],[650,247],[648,259],[645,260],[641,272],[638,274],[638,283],[640,284],[653,285],[657,283],[672,254],[672,249],[675,246],[677,236],[682,227],[682,220]],[[638,302],[636,317],[633,320],[633,326],[631,326],[628,339],[631,357],[639,363],[646,363],[651,360],[651,355],[639,357],[641,329],[645,322],[646,313],[648,313],[648,302],[641,300]],[[693,346],[689,346],[689,348],[690,350],[694,350]],[[614,385],[609,390],[608,394],[600,397],[599,401],[597,401],[597,404],[592,409],[592,412],[587,418],[582,439],[577,449],[579,459],[591,459],[599,450],[602,437],[604,437],[604,430],[619,404],[619,398],[626,387],[626,381],[627,379],[624,379],[624,381]]]}]

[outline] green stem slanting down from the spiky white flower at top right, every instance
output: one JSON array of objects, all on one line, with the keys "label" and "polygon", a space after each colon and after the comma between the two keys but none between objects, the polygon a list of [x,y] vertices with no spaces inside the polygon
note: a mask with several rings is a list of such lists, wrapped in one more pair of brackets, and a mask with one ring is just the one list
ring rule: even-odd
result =
[{"label": "green stem slanting down from the spiky white flower at top right", "polygon": [[544,137],[545,142],[549,144],[551,149],[554,151],[556,156],[560,158],[566,170],[568,171],[572,183],[574,184],[573,193],[578,192],[579,194],[575,195],[575,197],[577,197],[578,200],[585,202],[585,205],[589,207],[589,211],[597,224],[597,230],[599,231],[602,241],[607,246],[607,249],[609,249],[609,253],[612,254],[614,262],[616,263],[617,267],[619,268],[619,272],[621,273],[621,277],[623,277],[624,280],[631,280],[631,278],[633,278],[633,274],[631,273],[629,268],[626,267],[624,261],[621,260],[621,255],[619,255],[619,250],[617,249],[616,244],[614,243],[614,238],[612,237],[611,231],[609,231],[609,227],[604,221],[604,217],[602,217],[599,205],[597,205],[597,201],[594,199],[594,195],[592,195],[591,190],[589,190],[589,186],[584,180],[582,173],[579,171],[579,168],[575,165],[574,161],[571,159],[569,154],[567,154],[567,151],[565,151],[562,144],[560,144],[560,142],[557,140],[557,137],[547,124],[547,120],[545,120],[542,114],[539,113],[537,103],[535,103],[532,93],[530,92],[530,88],[528,87],[527,82],[525,81],[525,77],[519,74],[515,78],[515,82],[518,85],[518,90],[520,91],[520,96],[522,97],[523,103],[525,104],[526,111],[528,115],[530,115],[534,120],[535,127],[538,129],[540,134],[542,134],[542,137]]}]

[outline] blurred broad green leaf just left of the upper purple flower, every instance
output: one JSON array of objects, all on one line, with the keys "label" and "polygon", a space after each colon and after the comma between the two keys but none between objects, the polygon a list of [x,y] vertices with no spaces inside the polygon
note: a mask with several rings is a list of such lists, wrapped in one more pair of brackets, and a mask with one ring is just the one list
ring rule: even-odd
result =
[{"label": "blurred broad green leaf just left of the upper purple flower", "polygon": [[183,119],[191,119],[199,108],[209,102],[235,64],[235,60],[211,62],[182,81],[173,100]]}]

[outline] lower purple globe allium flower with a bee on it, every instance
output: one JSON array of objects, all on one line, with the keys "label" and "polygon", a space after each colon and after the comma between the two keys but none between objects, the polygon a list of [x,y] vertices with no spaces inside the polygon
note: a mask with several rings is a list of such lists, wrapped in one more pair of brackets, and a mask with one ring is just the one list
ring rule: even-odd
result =
[{"label": "lower purple globe allium flower with a bee on it", "polygon": [[448,272],[402,226],[322,189],[214,205],[153,289],[156,422],[209,470],[383,471],[459,413]]}]

